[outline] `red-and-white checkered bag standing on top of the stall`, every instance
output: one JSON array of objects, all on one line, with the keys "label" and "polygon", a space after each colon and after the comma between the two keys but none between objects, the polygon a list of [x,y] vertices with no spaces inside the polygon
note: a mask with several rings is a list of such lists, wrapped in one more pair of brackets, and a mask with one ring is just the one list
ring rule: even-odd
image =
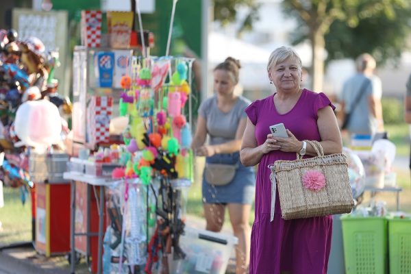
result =
[{"label": "red-and-white checkered bag standing on top of the stall", "polygon": [[86,47],[100,47],[101,18],[100,10],[82,11],[82,45]]}]

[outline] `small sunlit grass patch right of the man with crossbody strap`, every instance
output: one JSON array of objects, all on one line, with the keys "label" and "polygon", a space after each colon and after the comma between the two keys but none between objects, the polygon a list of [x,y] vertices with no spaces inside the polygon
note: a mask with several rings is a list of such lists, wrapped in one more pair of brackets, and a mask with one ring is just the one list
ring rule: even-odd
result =
[{"label": "small sunlit grass patch right of the man with crossbody strap", "polygon": [[396,125],[384,125],[388,138],[397,147],[397,155],[410,155],[410,134],[409,125],[406,123]]}]

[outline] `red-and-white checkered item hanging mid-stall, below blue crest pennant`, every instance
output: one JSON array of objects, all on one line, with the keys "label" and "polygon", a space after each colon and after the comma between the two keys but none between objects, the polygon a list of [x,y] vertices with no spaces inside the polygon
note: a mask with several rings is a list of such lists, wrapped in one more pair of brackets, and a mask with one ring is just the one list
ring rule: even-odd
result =
[{"label": "red-and-white checkered item hanging mid-stall, below blue crest pennant", "polygon": [[110,140],[113,98],[93,96],[88,104],[88,143],[92,146]]}]

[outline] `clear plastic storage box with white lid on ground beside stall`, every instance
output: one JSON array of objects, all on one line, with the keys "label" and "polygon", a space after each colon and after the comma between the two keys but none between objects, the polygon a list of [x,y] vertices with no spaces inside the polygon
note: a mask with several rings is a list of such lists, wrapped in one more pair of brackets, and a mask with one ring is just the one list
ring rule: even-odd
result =
[{"label": "clear plastic storage box with white lid on ground beside stall", "polygon": [[238,238],[192,227],[186,227],[184,232],[179,244],[186,258],[173,260],[173,256],[169,256],[170,273],[224,274]]}]

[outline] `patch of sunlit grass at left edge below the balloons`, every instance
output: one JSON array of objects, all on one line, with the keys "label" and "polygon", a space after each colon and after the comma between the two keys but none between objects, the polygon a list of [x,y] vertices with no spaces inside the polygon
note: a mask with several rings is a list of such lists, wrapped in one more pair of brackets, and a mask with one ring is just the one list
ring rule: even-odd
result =
[{"label": "patch of sunlit grass at left edge below the balloons", "polygon": [[4,207],[0,208],[0,245],[32,240],[32,203],[21,203],[18,188],[3,186]]}]

